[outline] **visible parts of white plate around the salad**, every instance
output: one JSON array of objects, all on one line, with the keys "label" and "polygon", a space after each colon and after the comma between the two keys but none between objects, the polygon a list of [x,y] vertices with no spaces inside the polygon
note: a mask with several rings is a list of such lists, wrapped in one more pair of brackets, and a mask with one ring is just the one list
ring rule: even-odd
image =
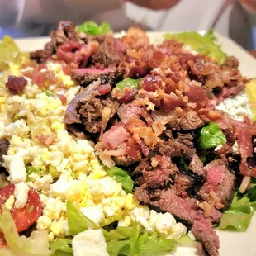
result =
[{"label": "visible parts of white plate around the salad", "polygon": [[[163,33],[158,32],[149,32],[148,33],[150,40],[155,42],[161,40]],[[118,35],[119,36],[119,35]],[[222,49],[228,55],[234,55],[239,59],[239,69],[241,73],[248,77],[256,77],[256,59],[249,55],[243,48],[237,45],[234,41],[225,38],[216,33],[218,42],[222,46]],[[21,50],[32,51],[40,50],[44,47],[45,43],[49,42],[49,37],[40,37],[40,38],[29,38],[16,40],[17,45]],[[246,232],[231,232],[231,231],[219,231],[217,234],[220,237],[220,256],[255,256],[256,255],[256,244],[255,237],[256,235],[256,216],[254,215],[253,220],[249,225],[249,229]],[[198,255],[196,249],[190,248],[178,248],[175,252],[177,256],[194,256]]]}]

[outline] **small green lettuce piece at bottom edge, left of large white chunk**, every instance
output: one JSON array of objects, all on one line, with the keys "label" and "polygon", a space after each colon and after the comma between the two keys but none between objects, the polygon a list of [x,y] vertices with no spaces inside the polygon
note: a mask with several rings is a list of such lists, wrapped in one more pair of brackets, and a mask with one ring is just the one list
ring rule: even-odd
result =
[{"label": "small green lettuce piece at bottom edge, left of large white chunk", "polygon": [[72,256],[72,239],[59,238],[50,243],[51,256]]}]

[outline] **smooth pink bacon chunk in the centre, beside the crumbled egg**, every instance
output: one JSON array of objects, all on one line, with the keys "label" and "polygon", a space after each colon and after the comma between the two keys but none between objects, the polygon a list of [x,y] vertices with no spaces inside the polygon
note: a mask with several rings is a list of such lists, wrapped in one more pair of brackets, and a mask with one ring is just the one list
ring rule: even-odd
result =
[{"label": "smooth pink bacon chunk in the centre, beside the crumbled egg", "polygon": [[121,123],[112,126],[110,130],[103,133],[100,137],[100,142],[106,149],[116,149],[128,139],[126,128]]}]

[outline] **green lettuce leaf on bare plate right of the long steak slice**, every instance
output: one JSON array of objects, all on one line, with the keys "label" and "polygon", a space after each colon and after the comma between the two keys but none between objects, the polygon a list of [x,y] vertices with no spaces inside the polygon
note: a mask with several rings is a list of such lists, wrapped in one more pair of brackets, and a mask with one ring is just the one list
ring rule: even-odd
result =
[{"label": "green lettuce leaf on bare plate right of the long steak slice", "polygon": [[248,194],[244,197],[239,197],[238,192],[232,201],[230,209],[225,211],[220,220],[219,229],[235,229],[244,232],[248,229],[249,222],[254,216],[254,211],[251,210],[252,203],[249,202]]}]

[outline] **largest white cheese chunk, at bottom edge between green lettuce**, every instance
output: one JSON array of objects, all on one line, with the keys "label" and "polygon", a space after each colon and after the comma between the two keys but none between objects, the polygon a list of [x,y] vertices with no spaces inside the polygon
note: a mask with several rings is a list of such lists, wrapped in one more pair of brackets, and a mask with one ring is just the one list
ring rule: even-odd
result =
[{"label": "largest white cheese chunk, at bottom edge between green lettuce", "polygon": [[102,230],[85,230],[72,240],[73,256],[108,256]]}]

